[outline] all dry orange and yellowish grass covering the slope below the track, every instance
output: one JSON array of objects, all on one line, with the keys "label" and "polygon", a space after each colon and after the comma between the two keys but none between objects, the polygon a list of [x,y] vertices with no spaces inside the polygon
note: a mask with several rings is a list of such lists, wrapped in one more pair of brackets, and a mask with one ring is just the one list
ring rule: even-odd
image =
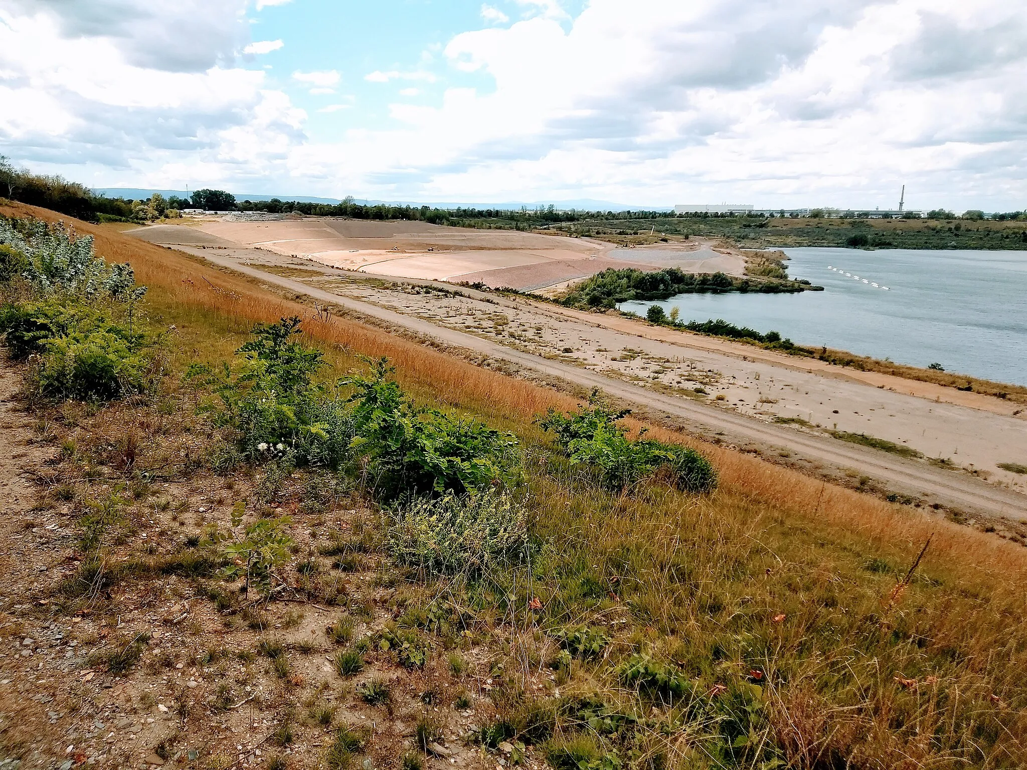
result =
[{"label": "all dry orange and yellowish grass covering the slope below the track", "polygon": [[[59,219],[21,205],[0,211]],[[174,317],[186,325],[216,318],[218,328],[239,332],[301,315],[312,340],[346,354],[387,356],[405,386],[520,426],[528,444],[541,441],[531,426],[535,416],[577,403],[378,329],[326,320],[181,253],[85,223],[76,228],[96,237],[106,259],[130,262],[137,279],[151,287],[153,307],[176,308]],[[550,543],[540,556],[546,578],[529,575],[526,588],[523,573],[495,576],[499,585],[514,580],[509,592],[518,602],[537,595],[549,622],[604,625],[613,638],[603,661],[574,661],[561,673],[565,698],[600,698],[614,710],[637,706],[639,693],[625,690],[615,669],[602,663],[648,650],[712,688],[707,698],[734,697],[760,683],[769,718],[749,740],[775,745],[785,764],[747,766],[1023,766],[1023,548],[750,455],[644,427],[706,454],[720,474],[718,492],[694,498],[653,488],[636,498],[611,496],[582,487],[556,463],[530,480],[536,528]],[[919,569],[907,580],[928,538]],[[515,610],[510,617],[516,621],[499,622],[489,644],[508,656],[507,679],[523,690],[517,698],[494,697],[495,714],[530,737],[536,711],[550,701],[524,692],[531,695],[537,686],[548,648],[527,613]],[[526,711],[525,703],[542,705]],[[631,755],[640,767],[736,766],[705,749],[699,733],[720,729],[715,719],[693,729],[667,722],[671,711],[650,705]],[[564,711],[555,719],[553,744],[607,740],[601,729],[582,732]]]}]

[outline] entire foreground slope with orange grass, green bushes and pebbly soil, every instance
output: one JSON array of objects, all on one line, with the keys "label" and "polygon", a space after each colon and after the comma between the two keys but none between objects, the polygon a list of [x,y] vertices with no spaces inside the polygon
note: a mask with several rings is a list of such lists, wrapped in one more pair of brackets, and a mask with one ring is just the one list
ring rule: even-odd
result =
[{"label": "entire foreground slope with orange grass, green bushes and pebbly soil", "polygon": [[1020,546],[77,227],[4,241],[96,277],[4,282],[49,453],[0,527],[7,756],[1020,766]]}]

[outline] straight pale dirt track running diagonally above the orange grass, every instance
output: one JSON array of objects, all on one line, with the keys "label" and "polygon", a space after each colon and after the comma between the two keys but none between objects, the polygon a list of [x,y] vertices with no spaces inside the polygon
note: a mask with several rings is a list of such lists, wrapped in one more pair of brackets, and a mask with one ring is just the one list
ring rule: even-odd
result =
[{"label": "straight pale dirt track running diagonally above the orange grass", "polygon": [[421,318],[353,300],[292,278],[274,275],[256,267],[240,264],[229,257],[222,257],[210,252],[202,254],[202,257],[216,265],[259,278],[266,283],[288,288],[299,295],[307,295],[322,302],[336,304],[348,310],[408,329],[416,334],[431,337],[447,345],[473,350],[492,358],[505,359],[525,369],[546,376],[559,377],[585,388],[600,388],[609,395],[650,410],[663,412],[710,432],[727,434],[734,440],[753,441],[779,448],[810,460],[851,468],[896,492],[921,496],[929,502],[937,502],[968,513],[1027,521],[1027,498],[963,473],[935,468],[895,455],[834,438],[805,433],[787,426],[762,423],[732,412],[705,407],[686,398],[664,395],[573,364],[525,353],[474,335],[447,329]]}]

